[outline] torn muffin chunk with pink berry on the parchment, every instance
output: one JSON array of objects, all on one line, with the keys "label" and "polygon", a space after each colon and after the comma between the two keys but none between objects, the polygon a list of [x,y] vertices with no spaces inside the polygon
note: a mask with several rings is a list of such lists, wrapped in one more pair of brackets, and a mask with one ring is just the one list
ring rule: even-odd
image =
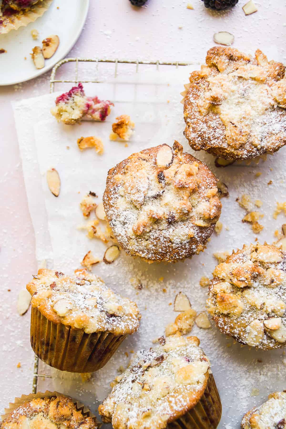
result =
[{"label": "torn muffin chunk with pink berry on the parchment", "polygon": [[93,121],[105,121],[110,113],[111,101],[99,100],[98,97],[86,97],[84,88],[80,82],[78,86],[61,94],[56,98],[56,106],[51,108],[51,114],[58,122],[73,125],[86,117]]}]

